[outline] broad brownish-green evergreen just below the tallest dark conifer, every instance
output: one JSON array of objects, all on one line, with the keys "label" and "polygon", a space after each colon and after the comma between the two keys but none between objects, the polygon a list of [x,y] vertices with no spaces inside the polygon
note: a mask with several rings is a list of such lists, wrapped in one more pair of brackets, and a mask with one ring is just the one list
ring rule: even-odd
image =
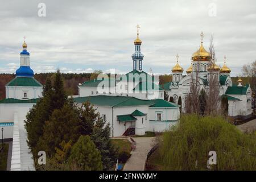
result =
[{"label": "broad brownish-green evergreen just below the tallest dark conifer", "polygon": [[61,109],[55,109],[44,125],[43,136],[39,140],[39,147],[52,157],[55,148],[64,140],[76,142],[79,137],[79,115],[75,106],[65,104]]}]

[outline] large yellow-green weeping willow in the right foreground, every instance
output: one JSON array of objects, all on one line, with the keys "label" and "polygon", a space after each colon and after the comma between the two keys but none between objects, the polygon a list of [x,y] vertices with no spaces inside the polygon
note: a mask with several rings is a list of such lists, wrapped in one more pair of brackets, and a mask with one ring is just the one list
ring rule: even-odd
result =
[{"label": "large yellow-green weeping willow in the right foreground", "polygon": [[[256,135],[243,134],[223,117],[182,115],[163,135],[160,156],[165,170],[255,170]],[[209,151],[217,164],[209,165]]]}]

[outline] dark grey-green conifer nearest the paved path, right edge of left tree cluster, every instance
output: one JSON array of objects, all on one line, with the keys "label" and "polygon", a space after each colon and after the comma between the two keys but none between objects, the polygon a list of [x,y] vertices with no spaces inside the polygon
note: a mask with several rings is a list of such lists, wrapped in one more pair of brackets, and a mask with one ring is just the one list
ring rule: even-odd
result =
[{"label": "dark grey-green conifer nearest the paved path, right edge of left tree cluster", "polygon": [[117,148],[115,148],[110,139],[110,126],[106,124],[100,115],[93,127],[91,139],[98,148],[102,156],[104,170],[109,170],[114,166],[117,159]]}]

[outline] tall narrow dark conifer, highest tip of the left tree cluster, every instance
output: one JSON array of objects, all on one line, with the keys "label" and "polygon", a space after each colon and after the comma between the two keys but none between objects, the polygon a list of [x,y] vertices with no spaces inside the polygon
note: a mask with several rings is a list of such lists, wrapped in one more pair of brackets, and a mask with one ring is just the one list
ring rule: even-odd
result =
[{"label": "tall narrow dark conifer, highest tip of the left tree cluster", "polygon": [[65,94],[63,80],[61,78],[60,70],[55,73],[53,82],[53,97],[52,105],[54,109],[61,109],[67,101],[67,95]]}]

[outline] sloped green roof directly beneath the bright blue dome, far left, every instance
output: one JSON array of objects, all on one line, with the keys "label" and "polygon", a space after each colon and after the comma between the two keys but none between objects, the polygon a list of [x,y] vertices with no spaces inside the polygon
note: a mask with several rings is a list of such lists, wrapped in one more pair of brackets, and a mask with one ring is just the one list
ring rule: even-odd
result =
[{"label": "sloped green roof directly beneath the bright blue dome, far left", "polygon": [[6,86],[43,86],[34,77],[15,77]]}]

